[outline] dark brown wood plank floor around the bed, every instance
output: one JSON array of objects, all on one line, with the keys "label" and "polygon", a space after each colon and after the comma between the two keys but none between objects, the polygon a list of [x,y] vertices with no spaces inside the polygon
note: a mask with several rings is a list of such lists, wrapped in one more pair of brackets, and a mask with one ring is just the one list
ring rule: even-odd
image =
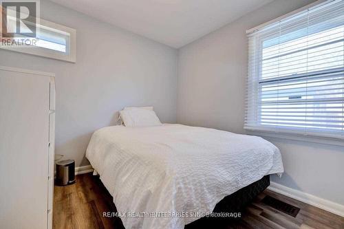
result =
[{"label": "dark brown wood plank floor around the bed", "polygon": [[[300,208],[298,215],[292,217],[264,203],[266,195]],[[103,212],[114,212],[116,206],[111,195],[91,173],[76,176],[76,184],[54,188],[54,229],[69,228],[114,228],[122,229],[118,217],[103,217]],[[295,199],[273,193],[261,193],[244,210],[239,219],[221,221],[212,219],[207,223],[195,223],[186,228],[344,228],[344,218]]]}]

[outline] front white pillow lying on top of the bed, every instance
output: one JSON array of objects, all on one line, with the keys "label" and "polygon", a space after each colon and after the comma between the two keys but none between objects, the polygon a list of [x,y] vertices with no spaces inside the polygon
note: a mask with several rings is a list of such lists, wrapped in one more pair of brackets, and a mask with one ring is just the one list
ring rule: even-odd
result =
[{"label": "front white pillow lying on top of the bed", "polygon": [[120,118],[126,127],[153,127],[162,125],[153,110],[139,108],[124,109],[120,111]]}]

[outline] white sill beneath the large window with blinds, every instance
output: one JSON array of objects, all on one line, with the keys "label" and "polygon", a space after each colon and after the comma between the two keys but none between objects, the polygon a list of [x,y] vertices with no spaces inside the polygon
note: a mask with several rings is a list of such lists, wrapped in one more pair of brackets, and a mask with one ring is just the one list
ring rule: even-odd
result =
[{"label": "white sill beneath the large window with blinds", "polygon": [[301,142],[314,142],[318,144],[331,144],[335,146],[344,146],[344,140],[341,138],[329,138],[314,135],[303,135],[301,133],[281,133],[268,130],[252,130],[246,129],[246,134],[257,135],[268,138],[282,138],[287,140],[295,140]]}]

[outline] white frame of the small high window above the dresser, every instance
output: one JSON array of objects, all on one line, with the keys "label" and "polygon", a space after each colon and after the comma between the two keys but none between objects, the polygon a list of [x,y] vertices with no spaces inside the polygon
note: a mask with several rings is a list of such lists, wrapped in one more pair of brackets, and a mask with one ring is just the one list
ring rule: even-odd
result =
[{"label": "white frame of the small high window above the dresser", "polygon": [[31,54],[34,56],[43,56],[46,58],[52,58],[60,61],[67,61],[70,63],[76,63],[76,30],[69,28],[65,25],[59,25],[51,21],[46,21],[43,19],[39,20],[39,25],[41,27],[46,27],[48,30],[59,30],[69,34],[69,39],[66,44],[66,54],[58,52],[56,50],[50,50],[45,47],[6,47],[1,46],[3,50],[10,50],[14,52],[21,52],[24,54]]}]

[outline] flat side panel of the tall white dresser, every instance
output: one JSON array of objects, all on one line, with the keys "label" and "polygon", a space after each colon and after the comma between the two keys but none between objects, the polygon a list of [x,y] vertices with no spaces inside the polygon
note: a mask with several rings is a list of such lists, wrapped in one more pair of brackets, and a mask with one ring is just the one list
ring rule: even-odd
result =
[{"label": "flat side panel of the tall white dresser", "polygon": [[0,69],[0,228],[47,228],[50,77]]}]

